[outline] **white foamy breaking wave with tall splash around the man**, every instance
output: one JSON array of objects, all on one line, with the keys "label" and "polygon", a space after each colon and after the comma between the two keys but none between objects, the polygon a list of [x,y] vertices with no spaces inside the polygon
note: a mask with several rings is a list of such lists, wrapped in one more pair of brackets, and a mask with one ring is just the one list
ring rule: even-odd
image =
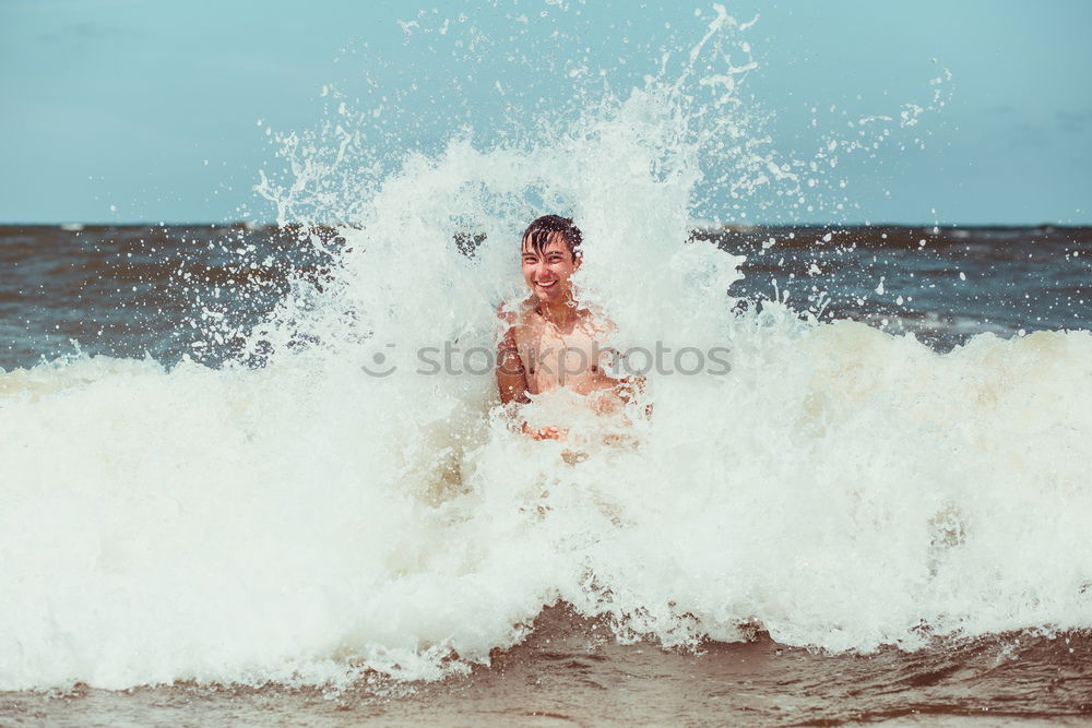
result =
[{"label": "white foamy breaking wave with tall splash around the man", "polygon": [[[343,135],[293,146],[300,183],[262,187],[281,222],[353,226],[330,275],[245,336],[249,366],[0,375],[0,688],[431,680],[559,601],[619,642],[682,648],[756,629],[867,653],[1092,626],[1088,332],[937,355],[780,294],[736,311],[739,259],[687,242],[710,186],[736,205],[799,193],[799,165],[724,146],[753,123],[728,93],[743,67],[720,68],[729,20],[669,80],[604,92],[531,142],[459,134],[333,190]],[[577,282],[615,344],[673,353],[650,362],[652,415],[631,413],[625,445],[575,414],[575,456],[532,442],[472,371],[544,208],[583,228]],[[480,236],[471,254],[461,234]],[[233,334],[216,322],[211,342]],[[446,344],[454,365],[418,372]],[[687,373],[682,348],[728,366]],[[562,398],[529,414],[571,413]]]}]

